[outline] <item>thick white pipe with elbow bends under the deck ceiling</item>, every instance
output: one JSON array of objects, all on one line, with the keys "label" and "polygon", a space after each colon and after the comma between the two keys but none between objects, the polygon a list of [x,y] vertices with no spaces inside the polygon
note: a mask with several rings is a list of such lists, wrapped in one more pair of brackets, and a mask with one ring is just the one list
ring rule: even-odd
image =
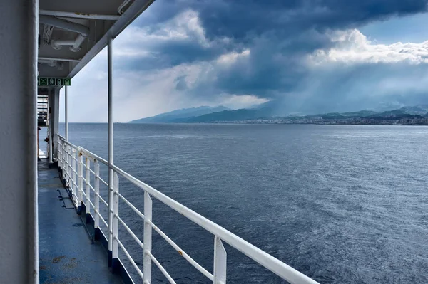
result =
[{"label": "thick white pipe with elbow bends under the deck ceiling", "polygon": [[56,28],[61,28],[66,31],[73,31],[75,33],[79,33],[76,39],[73,40],[52,40],[51,46],[52,48],[58,50],[61,49],[62,46],[70,46],[70,50],[73,52],[78,52],[81,50],[80,46],[85,40],[85,38],[89,35],[89,28],[81,25],[80,23],[73,23],[71,21],[66,21],[63,19],[58,19],[54,16],[39,16],[40,23],[44,23],[46,25],[54,26]]}]

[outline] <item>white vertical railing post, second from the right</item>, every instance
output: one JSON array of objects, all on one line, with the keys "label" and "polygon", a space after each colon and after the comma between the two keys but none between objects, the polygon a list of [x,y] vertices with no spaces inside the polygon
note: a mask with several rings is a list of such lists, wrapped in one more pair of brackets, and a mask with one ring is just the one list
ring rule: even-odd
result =
[{"label": "white vertical railing post, second from the right", "polygon": [[144,191],[144,254],[143,254],[143,284],[151,283],[151,238],[152,227],[148,221],[152,221],[152,200],[147,191]]}]

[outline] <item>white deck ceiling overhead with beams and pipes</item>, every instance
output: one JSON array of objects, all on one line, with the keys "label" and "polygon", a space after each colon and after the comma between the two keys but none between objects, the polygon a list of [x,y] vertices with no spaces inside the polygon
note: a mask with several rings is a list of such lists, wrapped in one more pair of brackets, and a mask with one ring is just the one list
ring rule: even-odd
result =
[{"label": "white deck ceiling overhead with beams and pipes", "polygon": [[[153,1],[39,0],[39,77],[72,78],[106,46],[108,36],[118,36]],[[61,23],[57,24],[58,20]],[[66,26],[86,27],[88,34],[67,30],[64,22],[68,22]],[[70,43],[54,44],[76,43],[79,35],[83,41],[78,48]]]}]

